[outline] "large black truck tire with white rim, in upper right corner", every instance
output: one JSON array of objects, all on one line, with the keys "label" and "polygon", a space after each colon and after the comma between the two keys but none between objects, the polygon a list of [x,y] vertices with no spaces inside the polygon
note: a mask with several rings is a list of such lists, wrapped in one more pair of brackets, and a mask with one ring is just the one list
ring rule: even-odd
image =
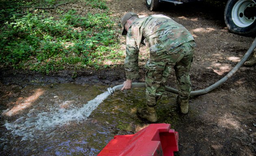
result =
[{"label": "large black truck tire with white rim, in upper right corner", "polygon": [[256,35],[255,0],[228,0],[224,20],[230,32],[243,36]]}]

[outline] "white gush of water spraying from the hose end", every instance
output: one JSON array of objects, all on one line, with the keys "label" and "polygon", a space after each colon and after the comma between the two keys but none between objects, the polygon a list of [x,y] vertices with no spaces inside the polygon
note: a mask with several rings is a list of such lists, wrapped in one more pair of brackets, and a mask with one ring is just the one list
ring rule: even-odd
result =
[{"label": "white gush of water spraying from the hose end", "polygon": [[[31,109],[27,117],[20,117],[11,123],[7,122],[4,126],[12,134],[21,136],[22,140],[33,140],[39,137],[41,132],[50,132],[56,126],[68,124],[70,121],[86,120],[92,111],[109,95],[108,91],[106,91],[84,104],[82,108],[77,108],[76,106],[73,106],[72,109],[52,107],[50,111],[41,113]],[[71,102],[65,101],[63,105],[67,103]]]}]

